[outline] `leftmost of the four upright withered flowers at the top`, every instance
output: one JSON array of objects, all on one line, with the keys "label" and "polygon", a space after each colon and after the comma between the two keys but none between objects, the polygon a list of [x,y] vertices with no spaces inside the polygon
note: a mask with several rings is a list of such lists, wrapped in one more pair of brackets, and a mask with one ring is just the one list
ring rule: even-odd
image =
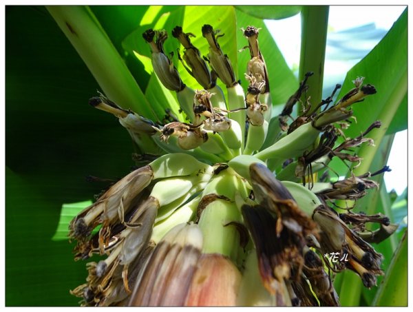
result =
[{"label": "leftmost of the four upright withered flowers at the top", "polygon": [[180,79],[178,70],[173,66],[172,60],[168,58],[163,49],[163,44],[168,38],[167,32],[149,29],[142,34],[142,37],[151,47],[153,71],[162,85],[176,92],[183,90],[185,85]]}]

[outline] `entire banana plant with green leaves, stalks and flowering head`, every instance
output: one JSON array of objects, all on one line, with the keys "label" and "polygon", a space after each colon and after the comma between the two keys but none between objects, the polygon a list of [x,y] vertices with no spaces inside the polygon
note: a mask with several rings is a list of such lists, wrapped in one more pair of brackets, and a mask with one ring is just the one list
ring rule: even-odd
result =
[{"label": "entire banana plant with green leaves, stalks and flowering head", "polygon": [[[297,79],[264,19],[298,13]],[[6,305],[407,305],[407,10],[328,96],[327,6],[6,17]]]}]

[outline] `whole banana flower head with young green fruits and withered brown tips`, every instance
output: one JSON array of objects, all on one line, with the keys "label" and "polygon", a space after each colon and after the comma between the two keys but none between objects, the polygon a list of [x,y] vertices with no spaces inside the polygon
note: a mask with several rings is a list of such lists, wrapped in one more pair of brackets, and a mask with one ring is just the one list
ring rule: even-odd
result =
[{"label": "whole banana flower head with young green fruits and withered brown tips", "polygon": [[[308,73],[282,113],[271,118],[259,30],[248,26],[243,32],[251,54],[246,90],[211,25],[202,27],[209,46],[204,57],[191,43],[193,34],[180,26],[172,31],[183,47],[178,58],[200,90],[182,82],[165,54],[165,30],[143,34],[153,70],[176,92],[185,119],[159,124],[103,94],[89,101],[116,116],[134,141],[145,134],[162,152],[110,185],[70,223],[75,259],[101,256],[87,264],[85,284],[72,291],[83,305],[337,306],[337,272],[355,271],[368,288],[383,274],[366,223],[379,223],[387,233],[383,239],[395,227],[381,215],[350,209],[338,214],[334,202],[361,198],[377,187],[370,177],[388,168],[335,182],[328,176],[332,158],[359,165],[362,158],[351,148],[372,144],[366,135],[379,122],[335,146],[352,116],[348,107],[376,90],[357,78],[334,105],[339,85],[311,105],[308,98],[301,101]],[[293,117],[297,102],[306,105]]]}]

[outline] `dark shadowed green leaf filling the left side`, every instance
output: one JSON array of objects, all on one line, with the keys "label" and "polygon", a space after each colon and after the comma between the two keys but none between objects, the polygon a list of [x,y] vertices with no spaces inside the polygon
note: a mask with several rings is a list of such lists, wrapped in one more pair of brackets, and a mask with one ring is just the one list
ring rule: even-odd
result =
[{"label": "dark shadowed green leaf filling the left side", "polygon": [[131,140],[87,105],[100,87],[44,11],[6,8],[6,58],[6,305],[74,306],[85,263],[52,241],[62,204],[106,186],[85,176],[129,172]]}]

